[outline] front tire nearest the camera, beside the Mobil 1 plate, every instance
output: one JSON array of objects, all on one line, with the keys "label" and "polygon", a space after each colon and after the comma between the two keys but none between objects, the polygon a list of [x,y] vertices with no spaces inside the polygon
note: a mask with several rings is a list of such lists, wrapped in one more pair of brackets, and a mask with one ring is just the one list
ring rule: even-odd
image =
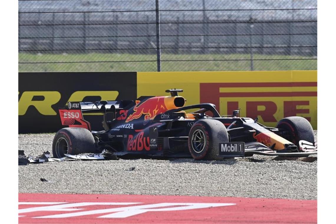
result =
[{"label": "front tire nearest the camera, beside the Mobil 1 plate", "polygon": [[221,160],[219,143],[228,141],[223,123],[213,119],[199,120],[190,129],[188,148],[195,160]]}]

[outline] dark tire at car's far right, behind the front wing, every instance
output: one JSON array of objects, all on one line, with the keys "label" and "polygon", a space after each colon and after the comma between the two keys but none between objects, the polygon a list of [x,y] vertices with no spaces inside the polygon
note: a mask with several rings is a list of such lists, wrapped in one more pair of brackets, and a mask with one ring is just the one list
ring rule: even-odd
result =
[{"label": "dark tire at car's far right, behind the front wing", "polygon": [[289,136],[284,135],[282,137],[293,142],[298,147],[299,151],[302,151],[299,145],[300,140],[305,140],[311,143],[315,142],[314,130],[305,118],[283,118],[278,122],[276,128],[284,129],[286,133],[289,133]]}]

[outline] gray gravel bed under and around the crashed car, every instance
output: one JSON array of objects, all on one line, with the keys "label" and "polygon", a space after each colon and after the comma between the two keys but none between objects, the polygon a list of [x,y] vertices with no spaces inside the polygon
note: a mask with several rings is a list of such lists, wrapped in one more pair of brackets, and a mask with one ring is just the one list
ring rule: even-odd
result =
[{"label": "gray gravel bed under and around the crashed car", "polygon": [[[317,131],[315,131],[317,138]],[[19,135],[26,155],[51,151],[54,134]],[[133,171],[129,168],[135,167]],[[317,199],[317,156],[225,161],[71,161],[18,167],[19,192]],[[40,181],[45,178],[47,182]]]}]

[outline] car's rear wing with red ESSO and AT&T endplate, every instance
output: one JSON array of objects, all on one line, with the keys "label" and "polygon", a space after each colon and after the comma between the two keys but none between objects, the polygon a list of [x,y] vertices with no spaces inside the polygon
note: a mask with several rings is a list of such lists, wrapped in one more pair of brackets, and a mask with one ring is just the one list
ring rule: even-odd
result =
[{"label": "car's rear wing with red ESSO and AT&T endplate", "polygon": [[64,108],[59,108],[58,111],[62,125],[86,128],[91,131],[91,125],[84,120],[83,114],[101,113],[104,116],[103,121],[106,123],[107,113],[112,113],[112,119],[115,119],[116,111],[123,109],[123,107],[130,105],[132,102],[132,100],[68,102]]}]

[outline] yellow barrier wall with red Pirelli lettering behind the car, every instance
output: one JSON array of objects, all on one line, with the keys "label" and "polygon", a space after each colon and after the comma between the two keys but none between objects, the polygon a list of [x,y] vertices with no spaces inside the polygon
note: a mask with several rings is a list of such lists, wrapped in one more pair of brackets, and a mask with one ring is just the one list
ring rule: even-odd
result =
[{"label": "yellow barrier wall with red Pirelli lettering behind the car", "polygon": [[214,103],[221,115],[241,108],[241,116],[275,126],[301,116],[317,129],[317,71],[138,72],[137,95],[166,95],[183,89],[186,105]]}]

